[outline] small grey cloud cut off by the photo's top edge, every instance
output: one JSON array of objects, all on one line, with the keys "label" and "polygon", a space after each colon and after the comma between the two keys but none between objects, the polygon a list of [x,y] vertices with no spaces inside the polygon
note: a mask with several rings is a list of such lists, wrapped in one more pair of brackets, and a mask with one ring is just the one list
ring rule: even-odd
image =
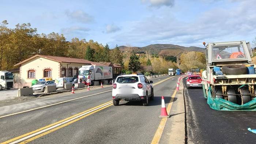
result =
[{"label": "small grey cloud cut off by the photo's top edge", "polygon": [[150,3],[151,7],[173,7],[174,0],[141,0],[142,3]]}]

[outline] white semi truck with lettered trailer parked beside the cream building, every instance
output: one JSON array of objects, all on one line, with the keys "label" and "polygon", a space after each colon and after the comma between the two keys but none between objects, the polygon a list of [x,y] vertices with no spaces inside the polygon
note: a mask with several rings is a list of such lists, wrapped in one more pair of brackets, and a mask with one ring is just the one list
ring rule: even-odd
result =
[{"label": "white semi truck with lettered trailer parked beside the cream building", "polygon": [[79,68],[78,82],[82,81],[85,85],[93,86],[95,81],[104,83],[113,79],[113,68],[97,65],[83,65]]}]

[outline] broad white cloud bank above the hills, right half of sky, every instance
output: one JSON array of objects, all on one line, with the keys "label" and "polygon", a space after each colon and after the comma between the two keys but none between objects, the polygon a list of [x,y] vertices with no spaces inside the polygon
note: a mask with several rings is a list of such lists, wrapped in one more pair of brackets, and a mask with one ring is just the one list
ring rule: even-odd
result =
[{"label": "broad white cloud bank above the hills, right half of sky", "polygon": [[132,30],[118,34],[114,39],[132,45],[172,43],[184,46],[202,46],[202,42],[251,41],[256,36],[256,3],[242,1],[229,8],[214,8],[186,22],[170,14],[150,16],[127,24]]}]

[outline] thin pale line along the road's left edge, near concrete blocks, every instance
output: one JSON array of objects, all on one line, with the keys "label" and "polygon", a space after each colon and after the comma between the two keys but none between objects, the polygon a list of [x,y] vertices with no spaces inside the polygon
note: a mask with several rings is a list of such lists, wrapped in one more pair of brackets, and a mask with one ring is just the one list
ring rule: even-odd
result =
[{"label": "thin pale line along the road's left edge, near concrete blocks", "polygon": [[[109,91],[112,91],[112,90],[109,90]],[[44,108],[44,107],[59,105],[59,104],[61,104],[61,103],[65,103],[65,102],[69,102],[69,101],[74,101],[74,100],[76,100],[76,99],[86,98],[86,97],[88,97],[88,96],[98,95],[98,94],[102,94],[102,93],[109,92],[109,91],[103,91],[103,92],[99,92],[99,93],[97,93],[97,94],[86,95],[86,96],[82,96],[82,97],[75,98],[75,99],[69,99],[69,100],[63,101],[63,102],[53,103],[53,104],[51,104],[51,105],[41,106],[41,107],[37,107],[37,108],[34,108],[34,109],[29,109],[29,110],[20,111],[20,112],[17,112],[17,113],[7,114],[7,115],[0,116],[0,118],[8,117],[8,116],[15,115],[15,114],[20,114],[20,113],[25,113],[25,112],[32,111],[32,110],[42,109],[42,108]]]}]

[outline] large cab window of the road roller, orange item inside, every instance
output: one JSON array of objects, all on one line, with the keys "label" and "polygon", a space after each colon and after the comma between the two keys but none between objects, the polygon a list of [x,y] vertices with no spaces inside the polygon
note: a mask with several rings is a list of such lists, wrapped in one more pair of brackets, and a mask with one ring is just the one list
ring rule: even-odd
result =
[{"label": "large cab window of the road roller, orange item inside", "polygon": [[225,45],[212,47],[212,59],[235,59],[246,58],[244,47],[240,45]]}]

